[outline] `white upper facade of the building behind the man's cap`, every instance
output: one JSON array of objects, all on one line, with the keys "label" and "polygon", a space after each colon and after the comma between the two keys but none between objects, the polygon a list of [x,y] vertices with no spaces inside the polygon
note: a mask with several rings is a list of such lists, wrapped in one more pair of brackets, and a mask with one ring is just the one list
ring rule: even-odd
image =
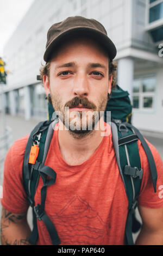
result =
[{"label": "white upper facade of the building behind the man's cap", "polygon": [[89,0],[80,5],[75,0],[35,0],[23,17],[16,31],[4,48],[10,87],[26,86],[36,82],[43,53],[45,51],[48,28],[68,16],[84,15],[100,21],[118,49],[131,45],[131,5],[130,0]]}]

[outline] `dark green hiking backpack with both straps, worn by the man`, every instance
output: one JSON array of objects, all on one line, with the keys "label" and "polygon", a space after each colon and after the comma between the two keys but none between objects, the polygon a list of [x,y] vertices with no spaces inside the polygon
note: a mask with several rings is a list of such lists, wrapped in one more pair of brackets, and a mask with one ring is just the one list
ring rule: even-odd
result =
[{"label": "dark green hiking backpack with both straps, worn by the man", "polygon": [[[141,141],[147,155],[154,192],[156,192],[157,172],[153,155],[147,142],[139,130],[131,125],[132,106],[128,95],[128,92],[124,92],[119,86],[112,89],[111,99],[105,109],[104,120],[107,120],[106,111],[111,111],[112,142],[128,197],[128,216],[124,238],[126,245],[134,245],[133,233],[137,232],[141,227],[141,224],[136,220],[135,209],[143,175],[137,146],[138,140]],[[48,102],[48,120],[40,122],[30,133],[24,154],[23,186],[27,193],[28,203],[33,209],[33,230],[29,239],[29,242],[33,245],[36,244],[38,238],[37,221],[45,223],[53,245],[61,243],[55,225],[44,210],[47,186],[54,184],[57,178],[55,170],[45,166],[44,163],[53,136],[53,128],[58,121],[58,116],[55,114],[53,106]],[[43,181],[41,205],[35,205],[34,196],[40,178]]]}]

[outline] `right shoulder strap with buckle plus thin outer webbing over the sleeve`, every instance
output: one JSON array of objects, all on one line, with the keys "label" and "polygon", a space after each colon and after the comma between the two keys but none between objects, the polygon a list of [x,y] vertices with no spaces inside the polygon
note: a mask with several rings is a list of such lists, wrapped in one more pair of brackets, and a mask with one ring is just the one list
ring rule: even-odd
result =
[{"label": "right shoulder strap with buckle plus thin outer webbing over the sleeve", "polygon": [[[156,166],[152,152],[138,129],[136,129],[133,125],[129,123],[120,123],[117,125],[111,123],[111,130],[117,163],[120,169],[121,176],[123,177],[122,180],[124,183],[124,187],[126,188],[129,202],[129,211],[126,222],[126,243],[128,245],[133,245],[134,241],[132,232],[137,231],[137,229],[139,229],[140,227],[140,223],[137,222],[135,217],[133,218],[133,216],[137,206],[137,198],[139,197],[141,179],[143,175],[138,146],[136,143],[137,139],[141,141],[142,147],[147,155],[149,168],[151,170],[153,180],[154,192],[156,192],[157,180]],[[134,227],[134,225],[136,228]]]}]

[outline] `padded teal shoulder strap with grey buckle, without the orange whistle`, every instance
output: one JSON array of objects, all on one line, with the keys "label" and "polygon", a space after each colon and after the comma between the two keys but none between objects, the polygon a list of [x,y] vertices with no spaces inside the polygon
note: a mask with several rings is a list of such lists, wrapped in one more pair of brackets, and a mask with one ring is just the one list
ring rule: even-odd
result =
[{"label": "padded teal shoulder strap with grey buckle, without the orange whistle", "polygon": [[[141,169],[137,136],[126,125],[111,123],[112,141],[116,160],[128,197],[128,216],[125,238],[127,245],[134,245],[133,218],[139,196],[143,170]],[[137,222],[135,221],[137,224]],[[137,224],[140,227],[140,223]]]}]

